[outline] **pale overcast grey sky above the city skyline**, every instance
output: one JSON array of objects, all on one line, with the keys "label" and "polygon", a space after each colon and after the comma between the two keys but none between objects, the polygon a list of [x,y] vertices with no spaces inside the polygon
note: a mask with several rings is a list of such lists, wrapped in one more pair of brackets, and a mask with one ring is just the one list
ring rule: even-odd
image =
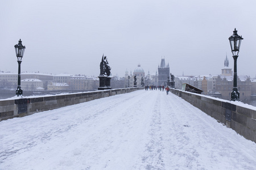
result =
[{"label": "pale overcast grey sky above the city skyline", "polygon": [[26,46],[23,71],[98,76],[102,54],[112,75],[138,63],[155,74],[162,57],[174,75],[221,74],[229,36],[242,35],[238,75],[256,74],[256,1],[2,1],[1,71],[18,72],[14,45]]}]

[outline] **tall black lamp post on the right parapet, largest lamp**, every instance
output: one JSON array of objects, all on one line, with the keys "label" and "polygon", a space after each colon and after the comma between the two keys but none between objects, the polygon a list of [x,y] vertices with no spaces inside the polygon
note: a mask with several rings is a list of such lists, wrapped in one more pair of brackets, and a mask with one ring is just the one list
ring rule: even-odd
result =
[{"label": "tall black lamp post on the right parapet, largest lamp", "polygon": [[240,50],[242,36],[237,34],[236,28],[233,31],[233,35],[229,37],[230,47],[234,58],[234,80],[233,80],[233,91],[231,92],[232,101],[240,101],[240,93],[237,90],[237,58]]}]

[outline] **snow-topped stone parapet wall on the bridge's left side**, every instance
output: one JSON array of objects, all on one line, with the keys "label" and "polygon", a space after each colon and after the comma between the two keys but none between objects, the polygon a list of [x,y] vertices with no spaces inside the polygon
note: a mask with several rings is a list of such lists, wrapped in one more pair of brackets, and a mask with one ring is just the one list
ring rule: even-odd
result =
[{"label": "snow-topped stone parapet wall on the bridge's left side", "polygon": [[49,111],[52,109],[66,107],[68,105],[79,104],[94,99],[100,99],[102,97],[126,94],[142,89],[144,88],[119,88],[94,92],[80,92],[75,94],[38,97],[33,96],[22,97],[20,99],[13,100],[0,100],[0,121],[14,117],[28,116],[36,112]]}]

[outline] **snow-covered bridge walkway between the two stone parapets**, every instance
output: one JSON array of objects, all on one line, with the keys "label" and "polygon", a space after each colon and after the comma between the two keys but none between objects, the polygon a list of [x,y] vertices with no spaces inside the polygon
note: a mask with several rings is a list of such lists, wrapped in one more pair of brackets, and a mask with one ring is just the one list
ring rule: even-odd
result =
[{"label": "snow-covered bridge walkway between the two stone parapets", "polygon": [[0,122],[0,169],[255,169],[256,144],[180,97],[135,91]]}]

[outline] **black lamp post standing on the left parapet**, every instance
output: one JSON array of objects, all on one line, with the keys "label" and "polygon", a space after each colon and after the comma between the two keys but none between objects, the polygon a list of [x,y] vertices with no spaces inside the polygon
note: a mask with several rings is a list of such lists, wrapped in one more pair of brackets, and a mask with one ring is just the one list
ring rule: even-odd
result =
[{"label": "black lamp post standing on the left parapet", "polygon": [[16,90],[16,95],[22,95],[22,88],[20,87],[20,64],[22,62],[22,57],[24,54],[25,46],[22,45],[22,41],[19,39],[19,44],[14,45],[15,52],[16,52],[16,57],[18,58],[18,65],[19,65],[19,70],[18,70],[18,87]]}]

